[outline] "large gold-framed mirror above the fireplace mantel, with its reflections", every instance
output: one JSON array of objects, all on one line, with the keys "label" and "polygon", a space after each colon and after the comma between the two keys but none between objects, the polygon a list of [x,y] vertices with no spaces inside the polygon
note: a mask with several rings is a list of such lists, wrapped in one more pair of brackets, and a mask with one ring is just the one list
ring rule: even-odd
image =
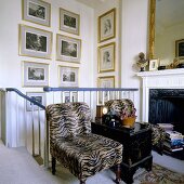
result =
[{"label": "large gold-framed mirror above the fireplace mantel, with its reflections", "polygon": [[149,0],[149,60],[184,63],[184,0]]}]

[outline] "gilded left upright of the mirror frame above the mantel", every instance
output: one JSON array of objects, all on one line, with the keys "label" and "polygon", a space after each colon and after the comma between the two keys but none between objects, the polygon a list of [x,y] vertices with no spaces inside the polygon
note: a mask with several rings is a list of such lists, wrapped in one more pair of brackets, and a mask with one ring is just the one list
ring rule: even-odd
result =
[{"label": "gilded left upright of the mirror frame above the mantel", "polygon": [[156,0],[149,1],[149,60],[154,58],[155,52],[155,11]]}]

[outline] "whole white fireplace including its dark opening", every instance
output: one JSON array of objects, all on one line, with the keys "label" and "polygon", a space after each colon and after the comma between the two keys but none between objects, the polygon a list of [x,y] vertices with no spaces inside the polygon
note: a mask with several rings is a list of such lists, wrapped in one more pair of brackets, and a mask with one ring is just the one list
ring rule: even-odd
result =
[{"label": "whole white fireplace including its dark opening", "polygon": [[184,69],[143,71],[136,76],[142,78],[142,120],[173,123],[184,134]]}]

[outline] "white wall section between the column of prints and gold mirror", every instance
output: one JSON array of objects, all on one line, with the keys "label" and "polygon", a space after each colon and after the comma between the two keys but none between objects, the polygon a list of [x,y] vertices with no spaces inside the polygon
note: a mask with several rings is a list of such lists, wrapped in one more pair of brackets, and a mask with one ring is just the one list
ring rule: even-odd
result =
[{"label": "white wall section between the column of prints and gold mirror", "polygon": [[147,0],[121,1],[121,87],[140,89],[135,96],[137,120],[142,114],[142,89],[135,63],[140,52],[148,56],[148,10]]}]

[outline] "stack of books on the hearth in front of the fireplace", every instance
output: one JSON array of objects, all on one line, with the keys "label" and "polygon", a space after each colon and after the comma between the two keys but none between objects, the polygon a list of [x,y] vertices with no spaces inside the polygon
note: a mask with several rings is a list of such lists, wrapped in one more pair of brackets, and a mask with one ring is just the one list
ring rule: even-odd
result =
[{"label": "stack of books on the hearth in front of the fireplace", "polygon": [[166,131],[167,137],[163,146],[169,152],[182,150],[184,148],[184,135],[176,131]]}]

